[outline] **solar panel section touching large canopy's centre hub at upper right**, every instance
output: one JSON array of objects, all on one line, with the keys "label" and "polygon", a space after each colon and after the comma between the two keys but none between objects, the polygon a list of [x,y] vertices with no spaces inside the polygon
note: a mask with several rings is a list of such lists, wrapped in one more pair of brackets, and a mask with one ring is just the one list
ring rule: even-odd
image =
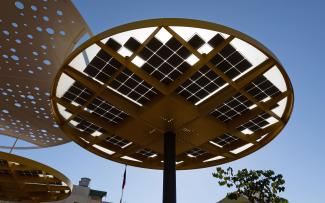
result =
[{"label": "solar panel section touching large canopy's centre hub at upper right", "polygon": [[189,80],[179,86],[176,91],[186,100],[195,104],[224,84],[226,82],[221,77],[207,66],[204,66]]}]

